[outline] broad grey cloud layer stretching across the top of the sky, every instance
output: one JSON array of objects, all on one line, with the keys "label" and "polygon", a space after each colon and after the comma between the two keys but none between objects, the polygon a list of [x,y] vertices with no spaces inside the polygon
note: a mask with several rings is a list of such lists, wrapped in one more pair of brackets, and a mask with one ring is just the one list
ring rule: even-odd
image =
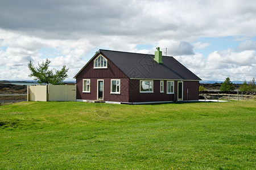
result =
[{"label": "broad grey cloud layer stretching across the top of the sky", "polygon": [[53,39],[126,35],[190,41],[255,35],[253,2],[10,0],[1,2],[0,21],[3,29]]}]

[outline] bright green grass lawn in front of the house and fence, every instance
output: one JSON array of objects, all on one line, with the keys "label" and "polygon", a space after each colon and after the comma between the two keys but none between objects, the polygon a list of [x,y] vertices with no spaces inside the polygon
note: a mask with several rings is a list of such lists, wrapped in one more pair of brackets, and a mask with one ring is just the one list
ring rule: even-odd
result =
[{"label": "bright green grass lawn in front of the house and fence", "polygon": [[0,107],[0,169],[255,169],[256,100]]}]

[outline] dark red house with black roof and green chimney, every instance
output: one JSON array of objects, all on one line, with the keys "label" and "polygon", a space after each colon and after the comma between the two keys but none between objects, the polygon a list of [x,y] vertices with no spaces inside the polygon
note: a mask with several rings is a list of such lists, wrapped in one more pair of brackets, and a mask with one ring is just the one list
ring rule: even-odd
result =
[{"label": "dark red house with black roof and green chimney", "polygon": [[198,76],[174,57],[100,49],[74,77],[77,101],[139,104],[199,100]]}]

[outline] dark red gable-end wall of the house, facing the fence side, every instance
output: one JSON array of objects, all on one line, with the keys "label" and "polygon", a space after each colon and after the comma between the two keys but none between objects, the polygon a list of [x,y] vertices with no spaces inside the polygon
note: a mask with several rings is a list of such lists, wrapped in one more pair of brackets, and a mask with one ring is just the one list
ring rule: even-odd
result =
[{"label": "dark red gable-end wall of the house, facing the fence side", "polygon": [[[104,80],[104,100],[128,102],[128,84],[127,76],[118,69],[107,57],[107,69],[93,69],[95,56],[84,69],[76,76],[77,99],[97,100],[97,80]],[[90,93],[82,92],[82,79],[90,79]],[[110,94],[111,79],[120,79],[120,94]]]}]

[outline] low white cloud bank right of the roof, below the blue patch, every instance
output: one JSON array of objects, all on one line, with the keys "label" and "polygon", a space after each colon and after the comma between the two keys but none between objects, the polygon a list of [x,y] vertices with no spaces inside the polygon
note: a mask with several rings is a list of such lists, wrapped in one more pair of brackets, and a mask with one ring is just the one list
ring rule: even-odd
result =
[{"label": "low white cloud bank right of the roof, below the blue patch", "polygon": [[234,52],[227,49],[210,53],[207,58],[200,53],[175,57],[203,80],[250,80],[256,77],[254,50]]}]

